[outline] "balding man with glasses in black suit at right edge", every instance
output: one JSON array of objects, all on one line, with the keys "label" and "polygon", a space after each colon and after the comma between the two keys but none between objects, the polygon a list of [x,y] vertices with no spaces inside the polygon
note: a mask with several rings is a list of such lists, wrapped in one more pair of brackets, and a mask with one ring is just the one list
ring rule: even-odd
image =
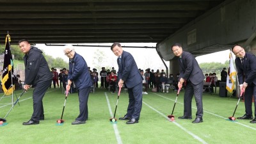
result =
[{"label": "balding man with glasses in black suit at right edge", "polygon": [[[252,120],[252,97],[254,96],[254,112],[256,116],[256,57],[253,54],[245,52],[243,47],[235,45],[232,52],[236,54],[235,60],[237,68],[237,77],[240,84],[240,90],[244,89],[244,116],[237,119]],[[256,123],[254,118],[250,123]]]}]

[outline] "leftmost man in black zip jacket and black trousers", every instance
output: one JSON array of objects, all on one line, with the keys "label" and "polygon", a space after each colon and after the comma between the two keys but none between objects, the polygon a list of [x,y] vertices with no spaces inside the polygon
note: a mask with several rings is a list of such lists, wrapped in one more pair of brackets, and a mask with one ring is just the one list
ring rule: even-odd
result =
[{"label": "leftmost man in black zip jacket and black trousers", "polygon": [[47,61],[43,56],[43,52],[29,44],[28,40],[19,41],[20,51],[24,56],[25,64],[25,85],[24,89],[28,90],[31,85],[33,90],[33,114],[28,122],[23,125],[39,124],[40,120],[44,120],[43,98],[45,92],[49,88],[52,81],[52,74],[48,67]]}]

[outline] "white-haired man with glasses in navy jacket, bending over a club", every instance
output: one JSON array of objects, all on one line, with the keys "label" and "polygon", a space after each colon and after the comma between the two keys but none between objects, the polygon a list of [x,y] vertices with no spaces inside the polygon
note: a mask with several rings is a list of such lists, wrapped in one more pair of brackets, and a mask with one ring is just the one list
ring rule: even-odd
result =
[{"label": "white-haired man with glasses in navy jacket, bending over a club", "polygon": [[85,124],[88,119],[88,97],[90,88],[93,85],[88,66],[84,58],[77,54],[72,45],[67,45],[64,49],[65,55],[69,58],[69,71],[67,91],[73,83],[77,88],[79,97],[79,115],[72,125]]}]

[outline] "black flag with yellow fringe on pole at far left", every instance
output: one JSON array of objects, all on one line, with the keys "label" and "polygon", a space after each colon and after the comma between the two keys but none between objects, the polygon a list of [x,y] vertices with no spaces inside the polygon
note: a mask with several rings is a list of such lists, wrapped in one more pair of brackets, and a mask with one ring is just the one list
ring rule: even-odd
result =
[{"label": "black flag with yellow fringe on pole at far left", "polygon": [[11,95],[13,90],[15,90],[15,86],[12,84],[13,61],[12,61],[12,53],[10,51],[10,41],[11,41],[10,35],[6,35],[3,78],[2,78],[2,88],[5,95]]}]

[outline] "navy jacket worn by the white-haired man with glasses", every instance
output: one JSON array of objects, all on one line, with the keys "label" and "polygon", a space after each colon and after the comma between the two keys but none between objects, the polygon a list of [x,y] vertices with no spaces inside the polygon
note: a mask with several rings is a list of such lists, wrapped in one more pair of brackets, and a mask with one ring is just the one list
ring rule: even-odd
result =
[{"label": "navy jacket worn by the white-haired man with glasses", "polygon": [[69,61],[68,79],[76,84],[78,90],[93,84],[86,61],[77,53]]}]

